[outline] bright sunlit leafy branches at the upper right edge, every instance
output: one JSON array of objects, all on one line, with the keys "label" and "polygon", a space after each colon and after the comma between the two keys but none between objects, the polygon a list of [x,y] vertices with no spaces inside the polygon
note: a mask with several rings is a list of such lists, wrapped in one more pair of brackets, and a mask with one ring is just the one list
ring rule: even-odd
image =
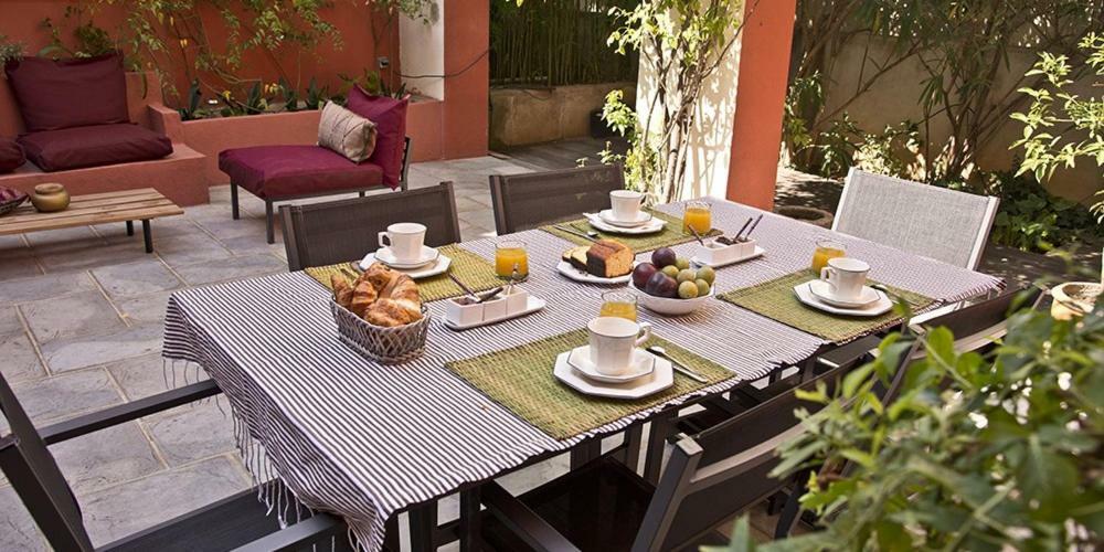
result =
[{"label": "bright sunlit leafy branches at the upper right edge", "polygon": [[[1078,45],[1096,77],[1094,88],[1104,89],[1104,34],[1089,33]],[[1031,105],[1026,113],[1011,115],[1023,123],[1023,138],[1011,146],[1023,149],[1018,174],[1031,172],[1047,181],[1059,168],[1073,168],[1078,159],[1104,168],[1104,92],[1089,97],[1066,92],[1073,84],[1071,73],[1074,70],[1068,55],[1049,52],[1040,53],[1027,72],[1027,76],[1042,76],[1045,84],[1020,88]],[[1102,201],[1093,210],[1104,223],[1104,191],[1096,194]]]}]

